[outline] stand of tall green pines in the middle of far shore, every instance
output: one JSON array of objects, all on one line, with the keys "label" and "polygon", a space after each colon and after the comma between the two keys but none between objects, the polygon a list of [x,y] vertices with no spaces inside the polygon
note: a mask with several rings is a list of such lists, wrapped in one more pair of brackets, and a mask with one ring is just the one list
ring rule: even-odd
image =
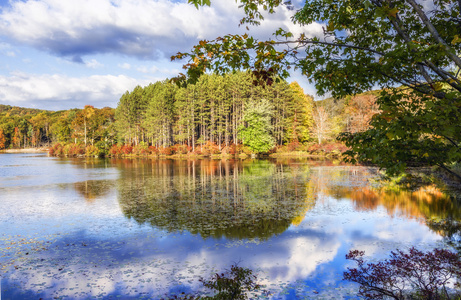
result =
[{"label": "stand of tall green pines in the middle of far shore", "polygon": [[[175,144],[195,150],[207,142],[219,147],[281,145],[310,139],[313,99],[296,82],[255,86],[249,73],[205,75],[177,87],[164,81],[125,93],[115,117],[119,141],[156,147]],[[251,142],[263,139],[258,145]]]}]

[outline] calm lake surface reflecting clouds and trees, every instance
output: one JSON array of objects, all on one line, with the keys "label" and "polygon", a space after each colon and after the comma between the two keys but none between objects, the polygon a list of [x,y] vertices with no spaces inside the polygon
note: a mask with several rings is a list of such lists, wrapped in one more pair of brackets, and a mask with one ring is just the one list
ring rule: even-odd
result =
[{"label": "calm lake surface reflecting clouds and trees", "polygon": [[[272,299],[353,298],[345,254],[444,247],[429,187],[309,161],[59,159],[0,154],[0,299],[159,299],[249,267]],[[443,234],[443,232],[442,232]]]}]

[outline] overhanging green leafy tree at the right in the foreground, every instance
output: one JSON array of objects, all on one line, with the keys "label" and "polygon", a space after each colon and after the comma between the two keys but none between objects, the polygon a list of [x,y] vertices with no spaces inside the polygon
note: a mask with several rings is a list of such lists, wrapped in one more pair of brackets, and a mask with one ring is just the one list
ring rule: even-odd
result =
[{"label": "overhanging green leafy tree at the right in the foreground", "polygon": [[[293,8],[281,0],[240,2],[242,23],[256,25],[263,10]],[[415,163],[449,170],[461,163],[460,11],[455,0],[309,0],[292,21],[322,24],[322,37],[284,29],[269,40],[226,35],[173,59],[189,58],[189,81],[206,70],[251,69],[257,82],[271,84],[273,75],[287,77],[294,67],[320,95],[343,97],[379,86],[381,112],[370,129],[341,138],[352,147],[349,160],[376,163],[390,174]]]}]

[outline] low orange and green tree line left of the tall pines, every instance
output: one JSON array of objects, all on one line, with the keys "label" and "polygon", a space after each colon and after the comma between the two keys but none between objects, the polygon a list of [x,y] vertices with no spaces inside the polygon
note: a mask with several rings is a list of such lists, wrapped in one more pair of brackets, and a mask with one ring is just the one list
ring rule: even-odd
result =
[{"label": "low orange and green tree line left of the tall pines", "polygon": [[113,108],[47,111],[0,105],[0,150],[115,142]]}]

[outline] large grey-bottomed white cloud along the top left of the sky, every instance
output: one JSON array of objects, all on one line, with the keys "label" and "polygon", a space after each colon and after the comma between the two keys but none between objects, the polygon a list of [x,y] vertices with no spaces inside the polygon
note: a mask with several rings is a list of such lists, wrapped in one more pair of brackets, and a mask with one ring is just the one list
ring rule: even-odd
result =
[{"label": "large grey-bottomed white cloud along the top left of the sky", "polygon": [[[236,6],[225,2],[227,8]],[[155,59],[225,31],[230,22],[235,27],[235,17],[227,14],[166,0],[27,0],[3,9],[0,30],[23,44],[77,62],[82,55],[110,52]]]}]

